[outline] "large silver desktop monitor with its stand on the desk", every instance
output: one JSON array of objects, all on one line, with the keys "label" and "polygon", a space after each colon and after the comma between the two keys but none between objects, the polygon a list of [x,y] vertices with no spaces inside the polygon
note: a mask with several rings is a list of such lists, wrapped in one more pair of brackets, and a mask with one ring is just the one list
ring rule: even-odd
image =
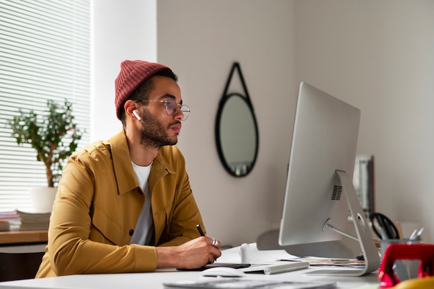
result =
[{"label": "large silver desktop monitor with its stand on the desk", "polygon": [[[361,270],[322,270],[318,274],[361,276],[379,268],[369,222],[352,184],[360,118],[356,107],[300,83],[279,245],[346,236],[358,241],[365,258]],[[349,218],[356,236],[345,231]]]}]

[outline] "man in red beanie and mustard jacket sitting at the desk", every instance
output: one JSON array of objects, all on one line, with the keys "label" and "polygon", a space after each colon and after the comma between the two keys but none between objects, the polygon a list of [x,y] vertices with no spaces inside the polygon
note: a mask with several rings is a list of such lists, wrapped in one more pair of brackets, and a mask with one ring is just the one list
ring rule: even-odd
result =
[{"label": "man in red beanie and mustard jacket sitting at the desk", "polygon": [[123,130],[72,155],[36,277],[200,268],[220,243],[202,217],[177,143],[189,107],[168,67],[125,60],[115,80]]}]

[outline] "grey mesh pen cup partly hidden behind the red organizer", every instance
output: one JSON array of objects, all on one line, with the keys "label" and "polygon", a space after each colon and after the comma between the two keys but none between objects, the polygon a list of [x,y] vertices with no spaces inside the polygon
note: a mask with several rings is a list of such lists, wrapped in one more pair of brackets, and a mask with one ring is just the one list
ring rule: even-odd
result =
[{"label": "grey mesh pen cup partly hidden behind the red organizer", "polygon": [[[385,254],[385,250],[389,245],[410,245],[410,244],[418,244],[419,240],[410,241],[407,239],[385,239],[380,240],[380,250],[381,250],[381,259]],[[408,279],[417,278],[417,269],[419,268],[419,259],[406,259],[401,260],[397,259],[394,261],[392,265],[392,270],[394,274],[399,278],[400,281],[405,281]]]}]

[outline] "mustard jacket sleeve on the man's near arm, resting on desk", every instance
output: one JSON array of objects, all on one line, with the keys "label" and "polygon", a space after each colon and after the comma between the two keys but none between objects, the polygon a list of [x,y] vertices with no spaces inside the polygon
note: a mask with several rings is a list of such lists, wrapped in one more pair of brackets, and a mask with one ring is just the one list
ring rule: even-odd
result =
[{"label": "mustard jacket sleeve on the man's near arm, resting on desk", "polygon": [[[110,222],[110,218],[115,218],[110,216],[110,211],[105,212],[107,221],[104,224],[107,228],[94,226],[91,215],[94,216],[99,209],[93,207],[96,188],[93,173],[78,158],[71,157],[65,166],[51,214],[46,249],[49,258],[44,257],[41,273],[37,277],[46,277],[44,272],[50,275],[47,268],[51,268],[57,276],[155,270],[155,247],[128,243],[116,245],[107,238],[110,231],[114,235],[116,230],[121,229],[116,226],[116,220]],[[108,189],[110,178],[107,179]],[[119,243],[122,242],[119,240]]]}]

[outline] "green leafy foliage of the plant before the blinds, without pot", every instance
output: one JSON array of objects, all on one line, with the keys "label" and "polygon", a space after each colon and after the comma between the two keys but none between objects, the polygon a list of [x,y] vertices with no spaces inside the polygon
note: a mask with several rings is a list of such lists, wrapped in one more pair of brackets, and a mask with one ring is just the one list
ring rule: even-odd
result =
[{"label": "green leafy foliage of the plant before the blinds, without pot", "polygon": [[58,104],[48,100],[47,110],[42,114],[20,109],[9,125],[18,145],[29,144],[36,150],[37,160],[45,165],[48,188],[55,191],[62,173],[62,161],[76,150],[83,135],[74,122],[72,103],[64,100],[63,104]]}]

